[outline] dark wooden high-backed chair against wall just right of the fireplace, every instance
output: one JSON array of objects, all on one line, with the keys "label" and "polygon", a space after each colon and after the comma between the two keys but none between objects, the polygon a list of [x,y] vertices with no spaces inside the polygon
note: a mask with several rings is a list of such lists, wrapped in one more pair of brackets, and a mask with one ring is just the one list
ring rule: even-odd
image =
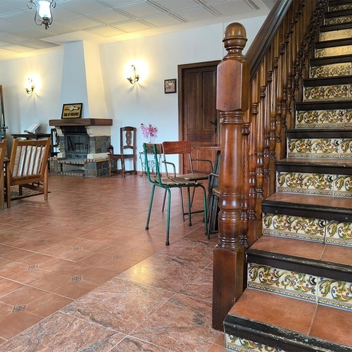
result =
[{"label": "dark wooden high-backed chair against wall just right of the fireplace", "polygon": [[[113,161],[116,161],[116,172],[121,172],[122,177],[127,173],[137,175],[137,128],[136,127],[120,127],[120,154],[109,153],[109,173],[113,175]],[[131,159],[133,170],[125,169],[125,160]],[[121,168],[118,168],[118,161],[121,163]]]}]

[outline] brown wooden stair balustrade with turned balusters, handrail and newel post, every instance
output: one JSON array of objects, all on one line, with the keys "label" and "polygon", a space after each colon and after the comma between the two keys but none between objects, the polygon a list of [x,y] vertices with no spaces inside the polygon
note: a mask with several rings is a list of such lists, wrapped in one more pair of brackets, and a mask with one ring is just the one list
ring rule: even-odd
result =
[{"label": "brown wooden stair balustrade with turned balusters, handrail and newel post", "polygon": [[213,328],[245,288],[245,251],[261,235],[261,202],[275,191],[275,161],[294,124],[294,103],[327,0],[277,1],[246,56],[246,30],[225,30],[218,66],[220,111],[219,237],[213,257]]}]

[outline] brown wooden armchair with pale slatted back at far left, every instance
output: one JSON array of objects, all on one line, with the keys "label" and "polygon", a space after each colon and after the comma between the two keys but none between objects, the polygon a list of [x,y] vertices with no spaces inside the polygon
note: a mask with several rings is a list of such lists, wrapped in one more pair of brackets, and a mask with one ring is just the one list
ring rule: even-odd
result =
[{"label": "brown wooden armchair with pale slatted back at far left", "polygon": [[11,186],[39,191],[48,199],[48,156],[50,138],[38,140],[13,139],[10,161],[6,165],[6,202],[11,208]]}]

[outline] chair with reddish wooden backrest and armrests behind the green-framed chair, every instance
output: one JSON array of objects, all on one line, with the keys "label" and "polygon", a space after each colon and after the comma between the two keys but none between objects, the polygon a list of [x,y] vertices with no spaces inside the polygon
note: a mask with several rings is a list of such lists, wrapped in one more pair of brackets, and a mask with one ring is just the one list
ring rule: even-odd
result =
[{"label": "chair with reddish wooden backrest and armrests behind the green-framed chair", "polygon": [[[164,156],[163,163],[165,163],[166,175],[167,176],[172,175],[173,177],[178,176],[178,177],[182,177],[186,180],[195,181],[195,182],[198,182],[201,180],[208,180],[210,172],[213,171],[212,161],[210,161],[208,159],[192,158],[191,151],[192,151],[192,147],[191,147],[191,142],[189,142],[189,141],[163,142],[163,156]],[[190,172],[188,172],[186,174],[177,175],[175,164],[166,160],[166,156],[172,155],[172,154],[174,154],[174,155],[178,154],[179,156],[183,156],[184,158],[187,158],[189,161]],[[195,163],[207,163],[210,167],[210,171],[209,172],[197,171],[195,168]],[[168,168],[168,165],[169,165],[169,168]],[[170,171],[170,167],[172,168],[172,172]],[[194,199],[194,191],[195,191],[195,189],[193,189],[193,192],[192,192],[191,204],[193,203],[193,199]],[[184,220],[184,215],[186,215],[187,213],[184,212],[182,191],[180,192],[180,194],[181,194],[182,218]],[[166,199],[166,193],[164,195],[164,200],[163,200],[163,210],[165,208],[165,199]],[[203,211],[203,210],[201,210],[201,211]],[[194,212],[194,213],[199,213],[199,211]]]}]

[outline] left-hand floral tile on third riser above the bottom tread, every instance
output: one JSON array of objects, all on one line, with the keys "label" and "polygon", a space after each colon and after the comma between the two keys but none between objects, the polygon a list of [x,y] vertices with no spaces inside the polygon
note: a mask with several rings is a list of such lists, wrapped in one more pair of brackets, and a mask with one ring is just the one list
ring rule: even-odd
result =
[{"label": "left-hand floral tile on third riser above the bottom tread", "polygon": [[333,187],[334,175],[277,172],[277,191],[332,195]]}]

